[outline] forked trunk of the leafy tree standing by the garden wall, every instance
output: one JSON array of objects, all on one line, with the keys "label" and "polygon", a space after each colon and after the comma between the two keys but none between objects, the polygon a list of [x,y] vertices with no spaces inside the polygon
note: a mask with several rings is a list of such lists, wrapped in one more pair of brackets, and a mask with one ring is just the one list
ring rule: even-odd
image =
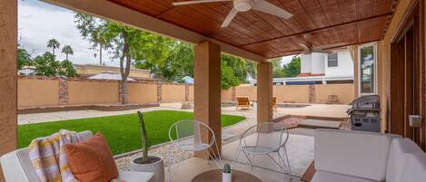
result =
[{"label": "forked trunk of the leafy tree standing by the garden wall", "polygon": [[[131,56],[130,56],[130,49],[129,49],[129,43],[128,43],[128,37],[127,33],[124,31],[123,33],[124,37],[124,47],[123,47],[123,55],[120,58],[120,73],[122,75],[122,81],[121,81],[121,97],[122,97],[122,104],[128,103],[128,97],[127,97],[127,77],[129,76],[130,72],[130,63],[131,63]],[[125,59],[125,69],[124,69],[124,59]]]}]

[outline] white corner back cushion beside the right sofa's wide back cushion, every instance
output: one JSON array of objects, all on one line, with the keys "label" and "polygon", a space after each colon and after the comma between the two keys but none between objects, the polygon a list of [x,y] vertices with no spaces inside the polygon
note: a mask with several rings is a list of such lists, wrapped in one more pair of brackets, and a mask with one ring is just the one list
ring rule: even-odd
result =
[{"label": "white corner back cushion beside the right sofa's wide back cushion", "polygon": [[401,182],[402,172],[411,153],[423,153],[423,150],[411,139],[393,139],[389,151],[386,182]]}]

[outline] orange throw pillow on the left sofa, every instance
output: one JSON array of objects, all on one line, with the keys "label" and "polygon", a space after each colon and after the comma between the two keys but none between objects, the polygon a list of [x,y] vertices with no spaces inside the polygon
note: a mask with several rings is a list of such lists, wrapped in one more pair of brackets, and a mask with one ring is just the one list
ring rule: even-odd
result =
[{"label": "orange throw pillow on the left sofa", "polygon": [[109,182],[118,176],[113,153],[102,133],[86,141],[65,145],[68,164],[81,182]]}]

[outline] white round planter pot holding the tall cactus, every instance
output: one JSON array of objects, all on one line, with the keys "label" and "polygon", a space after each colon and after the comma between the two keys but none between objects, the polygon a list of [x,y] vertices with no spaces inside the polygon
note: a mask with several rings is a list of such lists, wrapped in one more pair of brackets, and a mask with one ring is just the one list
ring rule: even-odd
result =
[{"label": "white round planter pot holding the tall cactus", "polygon": [[[158,156],[150,156],[154,158],[160,158]],[[130,171],[141,171],[141,172],[152,172],[154,173],[154,182],[164,182],[164,163],[163,158],[160,160],[149,163],[149,164],[137,164],[134,162],[135,159],[130,163]]]}]

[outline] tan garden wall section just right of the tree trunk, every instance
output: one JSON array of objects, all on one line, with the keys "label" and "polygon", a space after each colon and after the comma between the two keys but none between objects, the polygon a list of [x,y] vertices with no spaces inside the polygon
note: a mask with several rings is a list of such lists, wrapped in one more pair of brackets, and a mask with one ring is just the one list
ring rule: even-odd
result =
[{"label": "tan garden wall section just right of the tree trunk", "polygon": [[157,102],[157,84],[129,83],[128,89],[129,102]]}]

